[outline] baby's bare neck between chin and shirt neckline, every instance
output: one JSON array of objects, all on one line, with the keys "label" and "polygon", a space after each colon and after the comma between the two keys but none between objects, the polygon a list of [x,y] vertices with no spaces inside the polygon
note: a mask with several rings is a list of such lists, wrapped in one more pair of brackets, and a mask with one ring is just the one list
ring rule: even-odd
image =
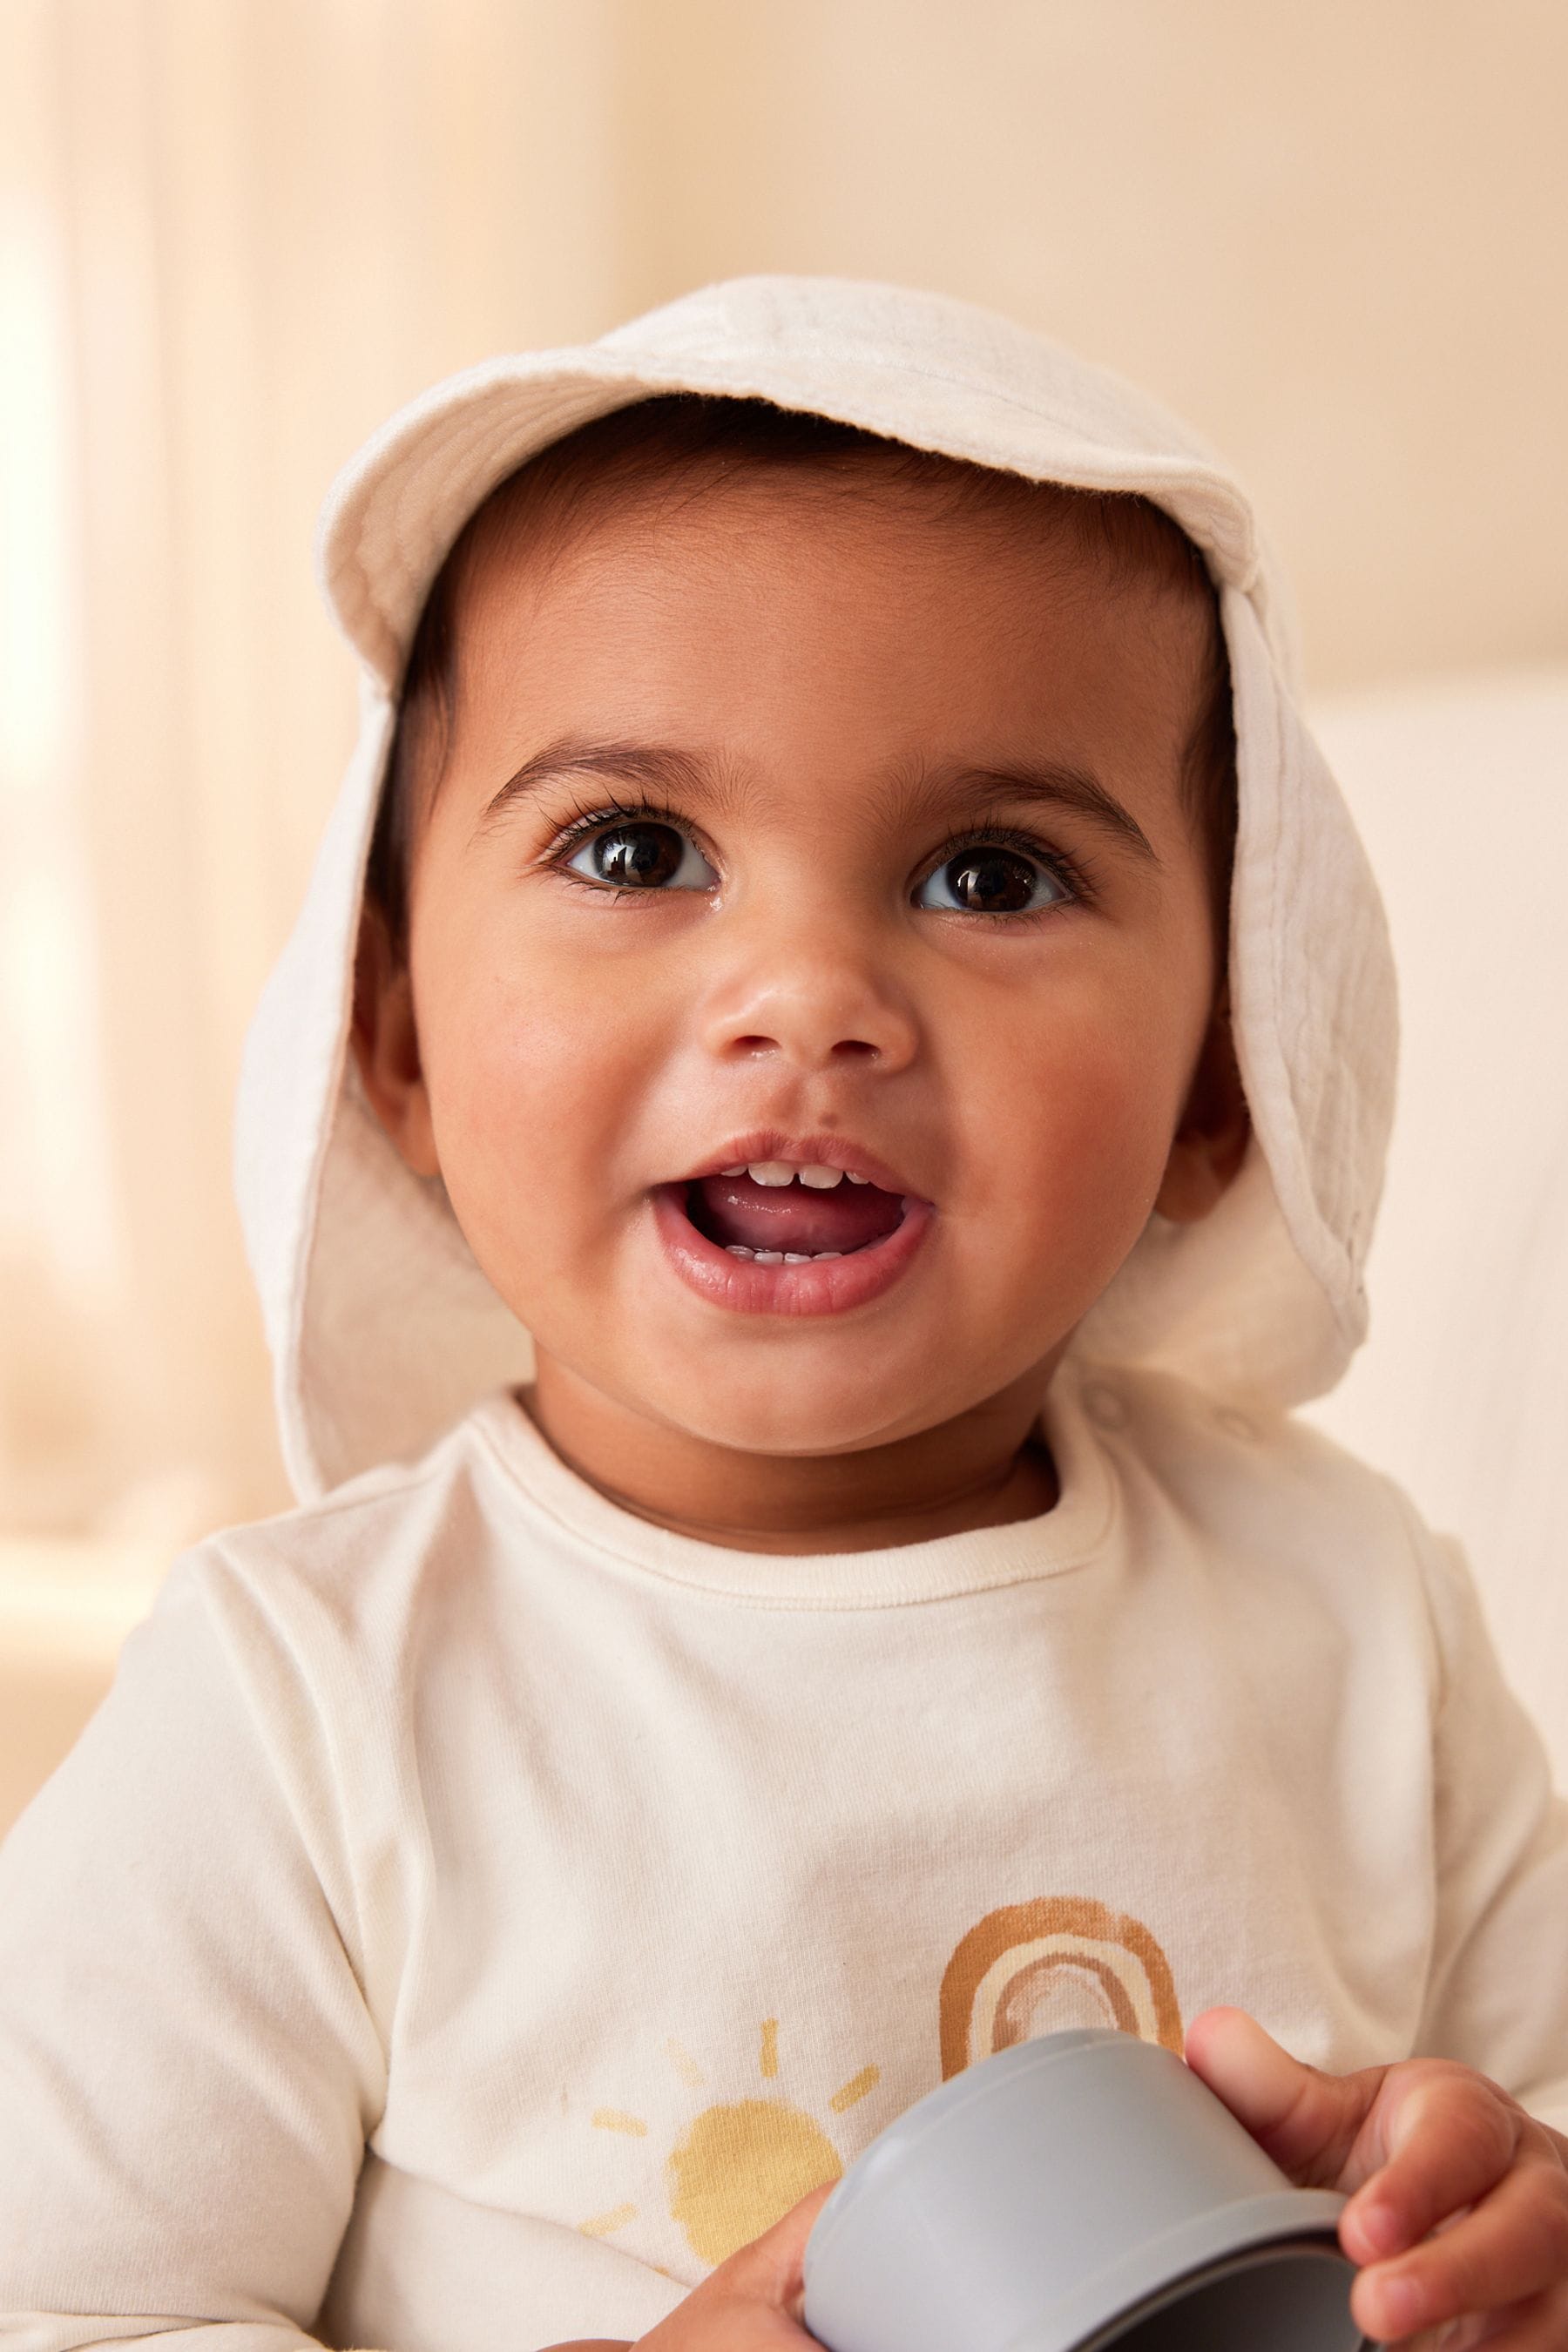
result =
[{"label": "baby's bare neck between chin and shirt neckline", "polygon": [[1053,1367],[936,1430],[853,1454],[745,1454],[670,1428],[541,1352],[517,1402],[562,1461],[654,1526],[736,1552],[872,1552],[1034,1519],[1058,1498],[1034,1435]]}]

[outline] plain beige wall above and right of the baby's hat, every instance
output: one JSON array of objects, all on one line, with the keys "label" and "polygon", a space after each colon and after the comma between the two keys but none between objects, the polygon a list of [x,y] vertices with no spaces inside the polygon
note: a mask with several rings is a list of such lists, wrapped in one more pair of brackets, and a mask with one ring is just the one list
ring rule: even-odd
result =
[{"label": "plain beige wall above and right of the baby's hat", "polygon": [[1568,647],[1561,0],[670,0],[628,296],[966,294],[1208,433],[1316,687]]}]

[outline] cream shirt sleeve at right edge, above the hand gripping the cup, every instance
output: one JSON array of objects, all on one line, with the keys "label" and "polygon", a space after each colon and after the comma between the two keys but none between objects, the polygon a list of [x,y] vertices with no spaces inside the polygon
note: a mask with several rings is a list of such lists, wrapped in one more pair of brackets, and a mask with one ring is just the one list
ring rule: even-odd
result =
[{"label": "cream shirt sleeve at right edge, above the hand gripping the cup", "polygon": [[1460,1548],[1425,1538],[1439,1646],[1436,1938],[1418,2051],[1568,2131],[1568,1804]]}]

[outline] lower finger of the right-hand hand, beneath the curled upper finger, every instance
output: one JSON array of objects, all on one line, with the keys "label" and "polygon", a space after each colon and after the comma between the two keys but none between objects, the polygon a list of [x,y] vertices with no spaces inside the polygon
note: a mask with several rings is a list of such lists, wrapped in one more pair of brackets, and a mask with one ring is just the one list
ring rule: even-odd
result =
[{"label": "lower finger of the right-hand hand, beneath the curled upper finger", "polygon": [[[1542,2143],[1540,2154],[1526,2152],[1474,2213],[1425,2246],[1366,2267],[1349,2307],[1366,2336],[1399,2343],[1469,2312],[1500,2312],[1566,2291],[1568,2173]],[[1497,2343],[1514,2352],[1509,2328]]]}]

